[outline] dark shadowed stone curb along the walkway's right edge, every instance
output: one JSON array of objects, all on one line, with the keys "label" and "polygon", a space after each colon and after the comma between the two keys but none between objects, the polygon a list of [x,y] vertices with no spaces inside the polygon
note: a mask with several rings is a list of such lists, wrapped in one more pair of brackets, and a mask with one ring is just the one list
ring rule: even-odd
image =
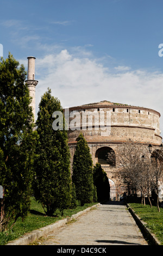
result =
[{"label": "dark shadowed stone curb along the walkway's right edge", "polygon": [[150,243],[150,245],[160,245],[159,240],[155,237],[154,234],[151,233],[151,231],[149,231],[149,229],[146,227],[146,222],[143,222],[142,220],[140,220],[139,216],[137,216],[135,214],[135,212],[133,211],[133,209],[130,208],[129,204],[127,204],[127,208],[130,212],[130,214],[133,216],[136,224],[138,225],[138,227],[140,228],[142,234],[144,235],[145,239]]}]

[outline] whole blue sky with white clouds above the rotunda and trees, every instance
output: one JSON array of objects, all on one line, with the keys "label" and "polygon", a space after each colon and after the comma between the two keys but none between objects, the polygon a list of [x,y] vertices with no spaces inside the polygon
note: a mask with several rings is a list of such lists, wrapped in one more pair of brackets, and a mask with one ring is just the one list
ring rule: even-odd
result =
[{"label": "whole blue sky with white clouds above the rotunda and trees", "polygon": [[49,87],[63,107],[109,100],[163,115],[162,0],[0,0],[0,8],[3,57],[11,52],[26,70],[36,57],[36,111]]}]

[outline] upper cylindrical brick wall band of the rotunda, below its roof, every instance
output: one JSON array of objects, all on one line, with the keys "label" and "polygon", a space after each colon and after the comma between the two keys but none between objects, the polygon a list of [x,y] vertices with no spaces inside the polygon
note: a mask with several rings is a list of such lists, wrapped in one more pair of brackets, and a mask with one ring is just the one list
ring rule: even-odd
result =
[{"label": "upper cylindrical brick wall band of the rotunda, below its roof", "polygon": [[[128,112],[127,112],[128,109]],[[69,130],[68,137],[70,142],[76,141],[81,130],[87,141],[124,141],[129,138],[136,142],[161,144],[162,138],[160,137],[159,118],[158,112],[142,109],[132,108],[100,108],[100,111],[105,113],[104,123],[99,123],[97,118],[93,116],[95,109],[76,109],[79,117],[70,118],[70,125],[73,125],[76,130]],[[139,113],[140,111],[140,113]],[[110,114],[110,121],[108,122],[111,127],[108,134],[103,136],[104,127],[106,126],[106,112]],[[92,127],[89,125],[88,118],[83,119],[83,114],[92,113]],[[100,112],[99,112],[100,113]],[[99,118],[101,115],[99,114]],[[74,123],[74,120],[76,123]],[[84,121],[83,121],[84,120]],[[103,124],[104,127],[99,127],[98,124]]]}]

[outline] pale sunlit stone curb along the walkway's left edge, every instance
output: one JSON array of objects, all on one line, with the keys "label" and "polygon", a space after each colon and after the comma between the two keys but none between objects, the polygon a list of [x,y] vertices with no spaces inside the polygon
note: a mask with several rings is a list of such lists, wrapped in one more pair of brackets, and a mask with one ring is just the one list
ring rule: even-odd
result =
[{"label": "pale sunlit stone curb along the walkway's left edge", "polygon": [[86,208],[83,211],[77,212],[77,214],[72,215],[71,217],[64,218],[63,220],[57,221],[54,224],[47,225],[46,227],[31,231],[30,233],[27,233],[20,238],[13,240],[6,245],[29,245],[30,243],[34,242],[35,240],[39,239],[41,236],[45,236],[48,233],[62,227],[63,225],[67,224],[68,222],[71,222],[72,220],[75,220],[79,216],[85,214],[87,211],[90,211],[92,208],[98,206],[98,204],[93,205],[89,208]]}]

